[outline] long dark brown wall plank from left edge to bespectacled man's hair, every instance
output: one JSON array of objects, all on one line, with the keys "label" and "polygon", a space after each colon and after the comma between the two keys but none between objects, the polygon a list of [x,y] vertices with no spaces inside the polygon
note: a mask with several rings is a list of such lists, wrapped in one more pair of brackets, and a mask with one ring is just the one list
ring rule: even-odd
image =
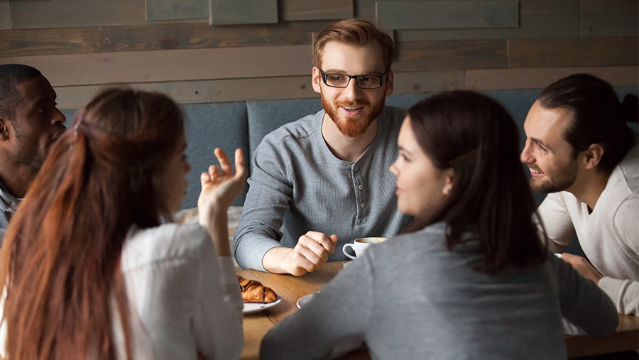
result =
[{"label": "long dark brown wall plank from left edge to bespectacled man's hair", "polygon": [[310,45],[312,32],[331,21],[292,21],[257,26],[207,23],[104,26],[0,31],[0,57],[114,51]]}]

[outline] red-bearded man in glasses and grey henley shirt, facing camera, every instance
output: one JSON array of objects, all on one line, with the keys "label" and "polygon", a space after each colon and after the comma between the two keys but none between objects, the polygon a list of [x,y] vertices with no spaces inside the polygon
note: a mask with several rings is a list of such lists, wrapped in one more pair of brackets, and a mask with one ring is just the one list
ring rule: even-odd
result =
[{"label": "red-bearded man in glasses and grey henley shirt, facing camera", "polygon": [[242,268],[301,276],[348,260],[342,246],[398,234],[395,178],[403,109],[393,93],[393,40],[360,19],[337,21],[313,46],[323,109],[265,136],[253,155],[234,241]]}]

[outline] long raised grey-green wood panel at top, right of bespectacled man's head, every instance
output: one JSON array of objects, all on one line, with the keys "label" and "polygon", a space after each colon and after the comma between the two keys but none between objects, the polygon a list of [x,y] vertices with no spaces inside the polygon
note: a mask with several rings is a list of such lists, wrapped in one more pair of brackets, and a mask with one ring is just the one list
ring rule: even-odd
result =
[{"label": "long raised grey-green wood panel at top, right of bespectacled man's head", "polygon": [[377,1],[381,28],[516,28],[519,4],[495,1]]}]

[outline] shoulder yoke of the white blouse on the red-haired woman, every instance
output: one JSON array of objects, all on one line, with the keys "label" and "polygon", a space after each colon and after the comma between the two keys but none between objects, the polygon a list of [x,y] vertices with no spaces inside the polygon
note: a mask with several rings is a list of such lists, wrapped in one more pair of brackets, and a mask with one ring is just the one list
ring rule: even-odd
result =
[{"label": "shoulder yoke of the white blouse on the red-haired woman", "polygon": [[139,229],[131,227],[122,249],[122,266],[201,256],[216,256],[206,229],[200,224],[161,224]]}]

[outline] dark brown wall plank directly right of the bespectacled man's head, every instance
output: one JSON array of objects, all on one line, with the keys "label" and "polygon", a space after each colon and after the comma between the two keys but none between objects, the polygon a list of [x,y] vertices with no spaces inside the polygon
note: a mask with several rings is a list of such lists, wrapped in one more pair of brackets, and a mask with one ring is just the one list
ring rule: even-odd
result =
[{"label": "dark brown wall plank directly right of the bespectacled man's head", "polygon": [[396,71],[507,67],[506,40],[410,41],[397,46]]}]

